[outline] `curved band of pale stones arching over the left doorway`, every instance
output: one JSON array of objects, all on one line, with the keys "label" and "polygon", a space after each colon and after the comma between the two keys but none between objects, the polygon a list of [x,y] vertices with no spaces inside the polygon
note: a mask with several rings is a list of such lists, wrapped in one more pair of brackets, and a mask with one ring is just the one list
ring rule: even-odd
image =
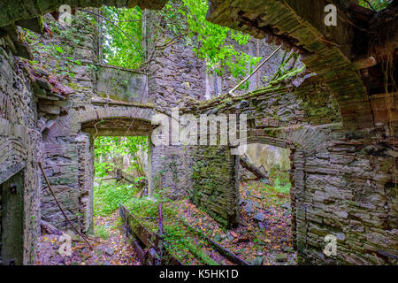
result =
[{"label": "curved band of pale stones arching over the left doorway", "polygon": [[58,136],[71,136],[79,134],[81,125],[90,121],[101,119],[140,119],[150,121],[153,111],[147,108],[132,106],[96,107],[85,106],[84,109],[71,110],[68,114],[57,118],[54,126],[50,128],[45,140]]}]

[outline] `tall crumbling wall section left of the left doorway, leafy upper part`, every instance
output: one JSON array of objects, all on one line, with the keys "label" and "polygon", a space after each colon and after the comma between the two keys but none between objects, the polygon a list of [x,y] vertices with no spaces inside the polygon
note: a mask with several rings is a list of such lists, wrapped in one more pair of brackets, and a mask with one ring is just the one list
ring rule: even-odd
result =
[{"label": "tall crumbling wall section left of the left doorway, leafy upper part", "polygon": [[[68,126],[60,126],[59,123],[71,111],[88,107],[88,102],[94,97],[96,50],[93,26],[79,15],[73,17],[72,27],[62,27],[50,15],[46,15],[45,19],[54,32],[42,36],[35,34],[46,48],[34,50],[34,57],[42,62],[44,72],[65,73],[57,77],[57,81],[68,88],[68,93],[64,97],[41,96],[38,101],[38,119],[43,135],[43,167],[67,217],[82,231],[88,231],[92,226],[92,216],[88,217],[88,211],[92,211],[93,205],[89,135],[73,131],[75,126],[80,126],[76,125],[76,120],[69,120]],[[70,43],[63,44],[65,41]],[[36,89],[37,93],[51,91]],[[64,131],[60,131],[60,128],[64,128]],[[42,187],[47,187],[44,179]],[[47,189],[42,191],[42,219],[57,228],[71,229]]]}]

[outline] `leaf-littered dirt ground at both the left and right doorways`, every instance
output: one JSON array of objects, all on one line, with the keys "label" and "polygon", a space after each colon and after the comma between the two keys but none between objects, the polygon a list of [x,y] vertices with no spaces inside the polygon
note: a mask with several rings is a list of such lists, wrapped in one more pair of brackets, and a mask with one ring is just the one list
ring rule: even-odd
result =
[{"label": "leaf-littered dirt ground at both the left and right doorways", "polygon": [[[188,200],[178,202],[177,210],[189,225],[201,230],[213,241],[255,265],[296,264],[292,248],[290,196],[267,187],[260,181],[242,182],[240,187],[240,225],[223,229],[207,213]],[[107,217],[95,217],[96,236],[90,236],[93,250],[72,232],[72,255],[61,255],[65,241],[59,235],[42,234],[36,264],[42,265],[139,265],[134,249],[120,233],[118,211]],[[62,240],[62,239],[61,239]],[[64,247],[63,246],[63,247]],[[220,264],[230,264],[209,255]]]}]

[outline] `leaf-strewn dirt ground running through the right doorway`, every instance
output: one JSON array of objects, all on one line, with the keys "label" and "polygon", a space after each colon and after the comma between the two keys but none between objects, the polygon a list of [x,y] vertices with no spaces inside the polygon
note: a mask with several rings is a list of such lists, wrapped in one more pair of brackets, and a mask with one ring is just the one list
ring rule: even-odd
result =
[{"label": "leaf-strewn dirt ground running through the right doorway", "polygon": [[222,229],[188,201],[181,203],[180,211],[191,226],[202,230],[250,264],[296,264],[296,252],[292,247],[290,195],[272,191],[271,187],[259,181],[241,183],[240,191],[240,225],[232,230]]}]

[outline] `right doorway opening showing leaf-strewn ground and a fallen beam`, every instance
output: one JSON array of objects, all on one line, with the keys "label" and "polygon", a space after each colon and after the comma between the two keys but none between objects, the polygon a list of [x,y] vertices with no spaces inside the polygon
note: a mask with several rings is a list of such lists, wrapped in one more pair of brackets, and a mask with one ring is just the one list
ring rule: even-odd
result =
[{"label": "right doorway opening showing leaf-strewn ground and a fallen beam", "polygon": [[[253,240],[254,247],[251,248],[256,250],[258,263],[295,264],[291,151],[252,143],[241,157],[241,224],[248,228],[241,232]],[[252,253],[249,248],[245,249],[243,253]]]}]

